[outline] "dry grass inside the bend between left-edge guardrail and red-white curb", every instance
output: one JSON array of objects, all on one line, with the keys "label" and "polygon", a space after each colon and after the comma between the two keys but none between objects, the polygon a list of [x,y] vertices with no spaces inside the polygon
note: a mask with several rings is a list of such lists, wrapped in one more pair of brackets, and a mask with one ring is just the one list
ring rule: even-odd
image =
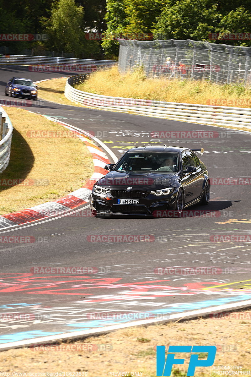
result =
[{"label": "dry grass inside the bend between left-edge guardrail and red-white curb", "polygon": [[[30,137],[31,130],[65,131],[27,110],[6,107],[14,133],[11,159],[0,175],[0,214],[60,198],[79,189],[93,173],[93,161],[78,137]],[[25,183],[8,180],[26,179]]]}]

